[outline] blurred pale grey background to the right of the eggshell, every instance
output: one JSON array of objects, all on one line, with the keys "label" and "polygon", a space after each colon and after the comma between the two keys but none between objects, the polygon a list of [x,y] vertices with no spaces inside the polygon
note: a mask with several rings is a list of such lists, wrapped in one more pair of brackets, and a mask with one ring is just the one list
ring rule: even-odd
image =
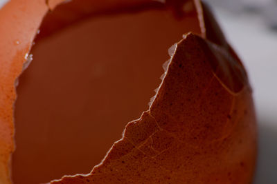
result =
[{"label": "blurred pale grey background to the right of the eggshell", "polygon": [[244,62],[259,132],[254,184],[277,183],[277,0],[206,0]]}]

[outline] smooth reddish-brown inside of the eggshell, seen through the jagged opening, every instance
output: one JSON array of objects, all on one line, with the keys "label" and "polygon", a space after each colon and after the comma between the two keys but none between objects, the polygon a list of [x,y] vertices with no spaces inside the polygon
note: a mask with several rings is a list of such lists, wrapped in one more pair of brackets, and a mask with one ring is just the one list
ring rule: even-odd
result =
[{"label": "smooth reddish-brown inside of the eggshell, seen through the jagged opening", "polygon": [[13,182],[89,173],[127,122],[148,110],[168,48],[189,31],[199,32],[195,15],[140,8],[87,17],[37,39],[17,87]]}]

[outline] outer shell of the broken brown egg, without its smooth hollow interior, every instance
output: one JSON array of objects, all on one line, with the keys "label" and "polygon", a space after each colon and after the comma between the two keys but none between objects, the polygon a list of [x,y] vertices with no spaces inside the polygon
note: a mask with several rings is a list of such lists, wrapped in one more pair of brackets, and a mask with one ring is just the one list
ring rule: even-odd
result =
[{"label": "outer shell of the broken brown egg, without its smooth hollow interior", "polygon": [[[146,1],[150,0],[139,3]],[[15,81],[30,58],[44,15],[61,2],[11,0],[0,10],[0,183],[11,183]],[[127,3],[139,5],[105,0],[90,7],[105,10]],[[90,174],[64,176],[51,183],[251,182],[256,119],[247,74],[208,8],[189,1],[187,10],[190,3],[197,8],[201,37],[188,34],[179,41],[150,110],[127,124],[123,139]],[[75,14],[61,27],[93,10]]]}]

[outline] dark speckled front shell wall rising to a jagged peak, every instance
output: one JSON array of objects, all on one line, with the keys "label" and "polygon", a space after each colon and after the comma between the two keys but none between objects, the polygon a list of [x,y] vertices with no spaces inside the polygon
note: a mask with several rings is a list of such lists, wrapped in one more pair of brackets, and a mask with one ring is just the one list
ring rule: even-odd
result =
[{"label": "dark speckled front shell wall rising to a jagged peak", "polygon": [[150,110],[128,123],[104,161],[91,174],[51,184],[251,183],[255,161],[256,118],[243,66],[225,48],[188,34]]}]

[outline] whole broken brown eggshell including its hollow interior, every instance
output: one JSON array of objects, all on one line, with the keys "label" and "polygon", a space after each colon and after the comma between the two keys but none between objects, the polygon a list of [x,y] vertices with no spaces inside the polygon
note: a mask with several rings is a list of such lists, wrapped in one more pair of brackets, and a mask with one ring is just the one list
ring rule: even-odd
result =
[{"label": "whole broken brown eggshell including its hollow interior", "polygon": [[10,0],[0,25],[0,183],[252,181],[251,87],[206,4]]}]

